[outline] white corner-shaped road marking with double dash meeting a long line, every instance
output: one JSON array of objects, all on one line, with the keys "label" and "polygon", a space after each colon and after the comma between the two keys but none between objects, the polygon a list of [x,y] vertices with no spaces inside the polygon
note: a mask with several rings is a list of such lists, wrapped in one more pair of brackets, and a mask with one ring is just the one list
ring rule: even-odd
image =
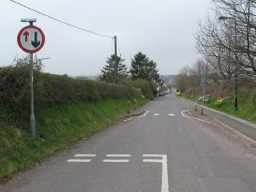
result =
[{"label": "white corner-shaped road marking with double dash meeting a long line", "polygon": [[143,157],[162,157],[162,159],[143,159],[143,162],[145,162],[145,163],[162,163],[162,190],[161,190],[161,192],[169,192],[167,155],[144,154]]}]

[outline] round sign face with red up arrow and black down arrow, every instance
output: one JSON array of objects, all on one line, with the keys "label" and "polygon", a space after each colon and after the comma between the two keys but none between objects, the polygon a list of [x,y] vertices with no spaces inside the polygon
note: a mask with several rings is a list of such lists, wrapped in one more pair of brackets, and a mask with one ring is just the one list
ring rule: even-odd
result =
[{"label": "round sign face with red up arrow and black down arrow", "polygon": [[22,28],[17,36],[18,46],[27,53],[39,51],[45,44],[45,34],[36,26]]}]

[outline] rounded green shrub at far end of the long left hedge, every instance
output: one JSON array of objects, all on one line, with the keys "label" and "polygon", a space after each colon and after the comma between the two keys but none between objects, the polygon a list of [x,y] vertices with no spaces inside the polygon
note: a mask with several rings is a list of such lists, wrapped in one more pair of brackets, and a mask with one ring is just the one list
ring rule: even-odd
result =
[{"label": "rounded green shrub at far end of the long left hedge", "polygon": [[141,89],[141,92],[148,99],[154,99],[153,93],[150,88],[150,83],[143,79],[136,79],[129,83],[129,86]]}]

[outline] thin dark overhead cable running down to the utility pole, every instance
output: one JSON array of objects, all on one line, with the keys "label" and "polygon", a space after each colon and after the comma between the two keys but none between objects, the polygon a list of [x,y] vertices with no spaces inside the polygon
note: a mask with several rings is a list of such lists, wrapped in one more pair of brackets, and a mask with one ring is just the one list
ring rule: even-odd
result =
[{"label": "thin dark overhead cable running down to the utility pole", "polygon": [[51,19],[55,20],[56,22],[59,22],[59,23],[68,25],[68,26],[70,26],[70,27],[73,27],[73,28],[76,28],[76,29],[79,29],[79,30],[82,30],[82,31],[85,31],[85,32],[88,32],[88,33],[92,33],[92,34],[94,34],[94,35],[103,36],[103,37],[109,37],[109,38],[114,38],[114,37],[112,37],[112,36],[110,36],[110,35],[105,35],[105,34],[101,34],[101,33],[96,33],[96,32],[94,32],[94,31],[91,31],[91,30],[88,30],[88,29],[84,29],[84,28],[75,26],[75,25],[73,25],[73,24],[67,23],[67,22],[63,22],[63,21],[60,20],[60,19],[57,19],[57,18],[55,18],[55,17],[53,17],[53,16],[51,16],[51,15],[48,15],[48,14],[42,13],[42,12],[40,12],[40,11],[37,11],[37,10],[35,10],[35,9],[33,9],[33,8],[30,8],[30,7],[28,7],[28,6],[24,5],[24,4],[21,4],[21,3],[19,3],[19,2],[14,1],[14,0],[9,0],[9,1],[12,2],[12,3],[15,3],[15,4],[17,4],[17,5],[20,5],[20,6],[24,7],[24,8],[26,8],[26,9],[29,9],[29,10],[31,10],[31,11],[34,11],[34,12],[40,14],[40,15],[43,15],[43,16],[48,17],[48,18],[51,18]]}]

